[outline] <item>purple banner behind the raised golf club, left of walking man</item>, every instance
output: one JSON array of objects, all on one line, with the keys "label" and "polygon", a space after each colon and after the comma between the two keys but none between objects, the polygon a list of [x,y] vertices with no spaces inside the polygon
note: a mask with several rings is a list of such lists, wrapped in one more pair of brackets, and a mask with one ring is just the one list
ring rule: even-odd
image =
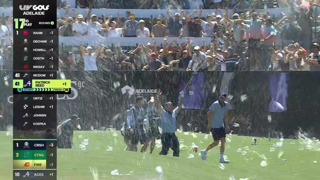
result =
[{"label": "purple banner behind the raised golf club, left of walking man", "polygon": [[[180,81],[179,91],[177,92],[177,97],[179,97],[179,92],[182,91],[188,81],[186,79]],[[183,108],[186,109],[203,109],[204,108],[204,72],[198,72],[193,76],[191,82],[184,89],[184,100]]]}]

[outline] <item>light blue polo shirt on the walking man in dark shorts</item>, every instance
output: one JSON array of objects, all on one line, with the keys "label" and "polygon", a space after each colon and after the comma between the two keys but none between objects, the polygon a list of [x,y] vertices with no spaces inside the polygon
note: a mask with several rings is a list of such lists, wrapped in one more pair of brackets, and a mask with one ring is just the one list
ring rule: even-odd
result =
[{"label": "light blue polo shirt on the walking man in dark shorts", "polygon": [[211,127],[220,128],[223,127],[224,114],[230,109],[228,102],[224,102],[225,105],[222,106],[219,101],[213,102],[210,106],[209,111],[211,114]]}]

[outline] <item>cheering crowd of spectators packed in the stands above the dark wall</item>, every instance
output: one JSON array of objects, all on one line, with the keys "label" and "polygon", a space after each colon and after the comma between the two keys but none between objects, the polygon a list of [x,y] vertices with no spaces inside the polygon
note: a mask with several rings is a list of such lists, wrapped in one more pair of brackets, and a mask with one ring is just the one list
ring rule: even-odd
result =
[{"label": "cheering crowd of spectators packed in the stands above the dark wall", "polygon": [[[129,11],[126,18],[121,18],[120,12],[118,17],[108,16],[108,12],[98,16],[93,8],[98,1],[86,2],[90,3],[86,14],[77,14],[72,5],[65,6],[66,15],[57,20],[59,36],[149,37],[150,41],[135,47],[62,45],[59,49],[61,70],[320,70],[319,45],[312,42],[316,37],[312,27],[318,26],[314,13],[320,7],[318,1],[290,2],[291,12],[282,12],[281,17],[271,16],[268,10],[258,14],[253,7],[239,13],[228,8],[222,12],[218,8],[203,14],[203,7],[199,6],[199,10],[191,12],[172,13],[167,9],[166,14],[159,17],[139,19]],[[68,16],[69,11],[73,16]],[[229,11],[233,11],[231,17]],[[7,19],[7,26],[1,25],[0,35],[10,34],[10,25],[12,17]],[[163,38],[164,43],[156,42],[155,37]],[[175,39],[167,41],[168,37]],[[194,44],[194,37],[210,38],[211,42]],[[181,38],[185,42],[178,44],[177,39]],[[2,48],[8,46],[2,45]],[[3,59],[6,61],[8,57]]]}]

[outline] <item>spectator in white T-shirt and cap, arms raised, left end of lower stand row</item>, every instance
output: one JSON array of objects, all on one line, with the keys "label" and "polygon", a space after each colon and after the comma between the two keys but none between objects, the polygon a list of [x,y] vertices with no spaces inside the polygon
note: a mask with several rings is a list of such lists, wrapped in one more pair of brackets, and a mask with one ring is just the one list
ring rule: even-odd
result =
[{"label": "spectator in white T-shirt and cap, arms raised, left end of lower stand row", "polygon": [[[99,55],[101,47],[97,47],[93,52],[92,47],[88,46],[86,50],[84,50],[84,46],[82,43],[80,44],[80,55],[84,59],[84,70],[98,70],[97,68],[97,56]],[[86,53],[87,52],[87,53]]]}]

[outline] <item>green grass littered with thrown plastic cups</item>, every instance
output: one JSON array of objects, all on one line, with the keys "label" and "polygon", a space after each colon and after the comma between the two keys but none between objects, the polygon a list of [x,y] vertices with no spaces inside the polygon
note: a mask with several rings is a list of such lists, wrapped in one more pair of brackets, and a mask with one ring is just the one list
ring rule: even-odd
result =
[{"label": "green grass littered with thrown plastic cups", "polygon": [[[6,132],[0,132],[0,179],[12,179],[12,136],[6,136]],[[83,135],[84,138],[79,138]],[[104,135],[104,137],[103,137]],[[228,180],[229,176],[249,178],[250,180],[311,180],[319,178],[320,151],[306,150],[304,144],[298,140],[284,139],[280,148],[270,152],[270,147],[276,143],[266,138],[257,138],[260,145],[251,145],[252,137],[227,135],[231,142],[226,143],[225,155],[230,160],[224,164],[225,169],[219,168],[219,148],[215,147],[208,152],[207,160],[203,161],[195,154],[194,158],[187,158],[193,154],[191,144],[194,142],[198,152],[204,149],[211,141],[212,136],[208,134],[192,133],[185,135],[177,132],[180,140],[180,157],[172,157],[172,150],[166,156],[159,155],[161,147],[155,148],[153,154],[124,151],[125,145],[120,132],[106,131],[76,131],[74,133],[74,144],[72,149],[58,149],[58,180],[93,180],[90,168],[96,168],[99,180],[153,180],[159,179],[156,167],[161,166],[164,171],[165,180],[197,180],[214,179]],[[204,136],[208,135],[205,140]],[[83,139],[89,138],[86,150],[81,150],[79,144]],[[181,142],[183,141],[183,142]],[[108,146],[112,151],[106,151]],[[249,150],[244,150],[248,146]],[[299,148],[305,150],[300,150]],[[237,152],[241,148],[246,155]],[[139,146],[140,151],[140,146]],[[149,151],[149,148],[148,148]],[[279,151],[284,151],[281,158],[277,158]],[[263,160],[259,155],[265,155],[268,165],[261,167]],[[281,160],[286,159],[286,163]],[[314,163],[317,161],[317,163]],[[111,171],[118,169],[119,174],[124,176],[112,176]],[[126,175],[133,174],[133,175]]]}]

